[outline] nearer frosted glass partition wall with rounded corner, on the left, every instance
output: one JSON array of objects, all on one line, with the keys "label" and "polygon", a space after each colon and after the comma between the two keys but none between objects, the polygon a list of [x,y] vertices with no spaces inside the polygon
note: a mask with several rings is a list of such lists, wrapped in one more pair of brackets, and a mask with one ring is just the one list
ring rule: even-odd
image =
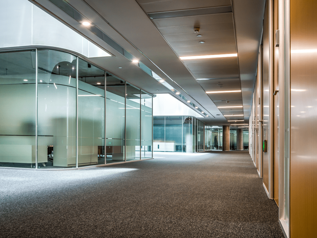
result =
[{"label": "nearer frosted glass partition wall with rounded corner, on the left", "polygon": [[152,158],[152,95],[78,56],[0,53],[0,167],[102,166]]}]

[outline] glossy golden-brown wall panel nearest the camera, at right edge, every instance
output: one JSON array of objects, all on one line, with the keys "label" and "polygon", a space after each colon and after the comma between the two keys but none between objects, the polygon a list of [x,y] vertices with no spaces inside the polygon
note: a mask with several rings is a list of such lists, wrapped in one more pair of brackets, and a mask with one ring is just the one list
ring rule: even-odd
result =
[{"label": "glossy golden-brown wall panel nearest the camera, at right edge", "polygon": [[316,9],[290,0],[290,238],[317,231]]}]

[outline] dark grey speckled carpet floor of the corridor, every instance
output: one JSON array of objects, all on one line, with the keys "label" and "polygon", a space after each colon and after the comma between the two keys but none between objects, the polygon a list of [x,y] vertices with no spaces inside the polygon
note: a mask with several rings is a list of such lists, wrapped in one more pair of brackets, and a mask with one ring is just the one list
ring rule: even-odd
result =
[{"label": "dark grey speckled carpet floor of the corridor", "polygon": [[0,169],[0,237],[284,237],[248,151]]}]

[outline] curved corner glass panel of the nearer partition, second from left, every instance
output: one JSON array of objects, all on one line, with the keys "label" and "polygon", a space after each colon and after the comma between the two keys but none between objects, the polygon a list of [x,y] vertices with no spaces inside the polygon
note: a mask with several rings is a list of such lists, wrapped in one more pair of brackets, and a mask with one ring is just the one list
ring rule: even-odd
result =
[{"label": "curved corner glass panel of the nearer partition, second from left", "polygon": [[71,54],[38,50],[39,168],[76,167],[76,65]]}]

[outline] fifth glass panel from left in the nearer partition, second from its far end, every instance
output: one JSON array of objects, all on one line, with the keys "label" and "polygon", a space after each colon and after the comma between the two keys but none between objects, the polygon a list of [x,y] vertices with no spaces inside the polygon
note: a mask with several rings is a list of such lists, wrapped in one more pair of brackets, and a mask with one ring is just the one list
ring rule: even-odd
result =
[{"label": "fifth glass panel from left in the nearer partition, second from its far end", "polygon": [[[140,159],[140,93],[126,84],[126,161]],[[122,110],[120,108],[120,110]]]}]

